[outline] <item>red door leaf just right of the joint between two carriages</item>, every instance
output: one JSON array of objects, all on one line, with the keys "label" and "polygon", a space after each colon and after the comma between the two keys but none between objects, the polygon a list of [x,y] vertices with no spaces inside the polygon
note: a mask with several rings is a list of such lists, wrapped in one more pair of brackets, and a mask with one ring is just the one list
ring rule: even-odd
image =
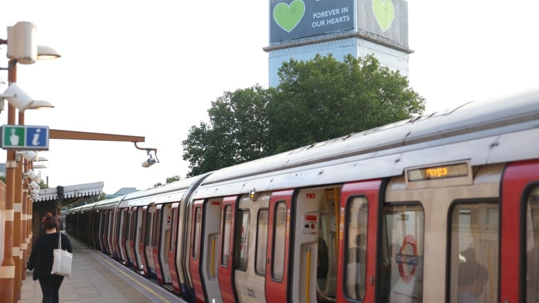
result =
[{"label": "red door leaf just right of the joint between two carriages", "polygon": [[191,246],[189,250],[189,271],[191,272],[191,280],[193,281],[193,291],[195,293],[196,302],[204,303],[204,289],[202,279],[200,277],[200,260],[202,260],[202,250],[200,243],[202,242],[202,208],[204,200],[197,200],[193,203],[193,213],[191,220]]}]

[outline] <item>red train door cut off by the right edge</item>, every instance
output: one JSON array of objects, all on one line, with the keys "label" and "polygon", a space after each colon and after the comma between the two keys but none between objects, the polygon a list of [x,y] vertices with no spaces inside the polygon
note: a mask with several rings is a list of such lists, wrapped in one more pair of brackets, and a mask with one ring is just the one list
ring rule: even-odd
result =
[{"label": "red train door cut off by the right edge", "polygon": [[509,164],[502,182],[500,302],[539,302],[539,161]]}]

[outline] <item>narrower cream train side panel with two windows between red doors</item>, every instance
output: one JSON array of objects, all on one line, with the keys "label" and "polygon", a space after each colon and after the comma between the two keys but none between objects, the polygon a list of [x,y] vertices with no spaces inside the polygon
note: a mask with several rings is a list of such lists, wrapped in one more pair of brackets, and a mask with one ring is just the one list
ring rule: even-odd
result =
[{"label": "narrower cream train side panel with two windows between red doors", "polygon": [[238,302],[265,302],[270,193],[242,195],[236,213],[234,289]]}]

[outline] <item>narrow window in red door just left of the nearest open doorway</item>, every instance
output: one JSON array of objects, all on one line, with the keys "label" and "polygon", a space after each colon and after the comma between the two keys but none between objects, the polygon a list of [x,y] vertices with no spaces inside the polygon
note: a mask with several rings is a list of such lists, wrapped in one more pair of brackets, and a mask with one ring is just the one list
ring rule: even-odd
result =
[{"label": "narrow window in red door just left of the nearest open doorway", "polygon": [[275,208],[272,277],[281,282],[285,273],[286,203],[277,202]]}]

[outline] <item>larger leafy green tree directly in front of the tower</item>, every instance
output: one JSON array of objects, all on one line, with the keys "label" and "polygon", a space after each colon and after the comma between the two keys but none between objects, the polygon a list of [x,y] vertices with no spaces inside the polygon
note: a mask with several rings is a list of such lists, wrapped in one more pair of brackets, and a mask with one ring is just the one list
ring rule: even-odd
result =
[{"label": "larger leafy green tree directly in front of the tower", "polygon": [[408,119],[425,108],[408,79],[373,56],[290,59],[278,77],[267,106],[272,154]]}]

